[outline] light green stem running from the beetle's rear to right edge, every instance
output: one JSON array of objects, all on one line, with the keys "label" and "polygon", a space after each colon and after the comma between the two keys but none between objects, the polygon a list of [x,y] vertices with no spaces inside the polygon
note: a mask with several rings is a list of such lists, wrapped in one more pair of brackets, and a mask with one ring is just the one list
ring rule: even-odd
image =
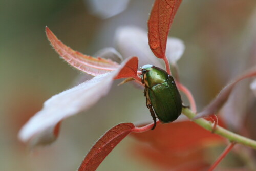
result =
[{"label": "light green stem running from the beetle's rear to right edge", "polygon": [[[196,114],[188,108],[183,108],[182,113],[184,115],[186,115],[189,119],[193,119],[196,116]],[[195,119],[192,121],[197,123],[198,125],[204,127],[204,129],[212,132],[212,123],[207,121],[206,119],[200,118],[200,119]],[[221,126],[217,125],[215,127],[214,133],[227,138],[230,142],[236,142],[236,143],[251,147],[253,149],[256,149],[256,141],[255,140],[235,134],[231,131],[224,129]]]}]

